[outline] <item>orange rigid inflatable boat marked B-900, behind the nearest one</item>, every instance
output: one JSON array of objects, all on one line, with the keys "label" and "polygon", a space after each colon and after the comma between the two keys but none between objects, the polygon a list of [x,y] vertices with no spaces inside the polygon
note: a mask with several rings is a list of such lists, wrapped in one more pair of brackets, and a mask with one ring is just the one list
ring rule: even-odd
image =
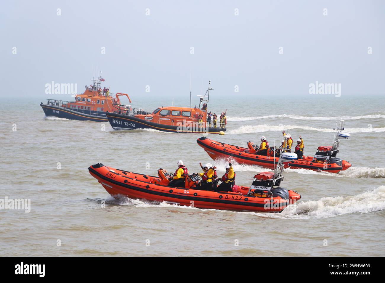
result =
[{"label": "orange rigid inflatable boat marked B-900, behind the nearest one", "polygon": [[[352,166],[348,161],[336,157],[339,151],[339,139],[347,139],[350,136],[348,133],[342,133],[343,122],[345,121],[341,120],[340,127],[336,127],[333,146],[320,146],[315,156],[303,156],[301,159],[284,162],[285,168],[303,168],[338,173]],[[225,144],[207,137],[197,139],[197,143],[203,147],[214,161],[224,159],[231,162],[233,160],[238,162],[238,164],[258,165],[266,168],[274,168],[274,165],[278,162],[278,157],[274,157],[274,147],[269,149],[268,156],[263,156],[258,155],[256,147],[252,142],[248,142],[248,148]],[[276,149],[280,148],[276,147]]]}]

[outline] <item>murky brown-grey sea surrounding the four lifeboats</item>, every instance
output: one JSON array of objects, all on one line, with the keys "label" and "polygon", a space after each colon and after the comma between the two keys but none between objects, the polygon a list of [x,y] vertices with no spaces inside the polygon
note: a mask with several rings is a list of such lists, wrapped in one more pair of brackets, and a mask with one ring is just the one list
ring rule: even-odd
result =
[{"label": "murky brown-grey sea surrounding the four lifeboats", "polygon": [[[46,95],[47,96],[47,95]],[[6,256],[385,256],[385,99],[383,95],[211,94],[209,111],[227,109],[220,142],[246,147],[282,131],[305,142],[305,155],[330,146],[336,123],[348,139],[338,157],[352,167],[338,174],[285,169],[282,186],[302,198],[282,213],[254,213],[114,198],[88,167],[103,163],[156,175],[182,160],[189,172],[213,161],[198,146],[202,134],[114,130],[108,122],[45,116],[51,97],[11,97],[0,104],[0,249]],[[53,97],[55,96],[55,97]],[[189,107],[189,94],[130,94],[132,107]],[[199,104],[192,100],[192,107]],[[262,98],[263,97],[263,98]],[[68,99],[67,97],[67,100]],[[195,103],[196,102],[196,103]],[[249,186],[268,169],[235,164],[236,183]],[[1,206],[25,200],[23,207]],[[24,209],[23,209],[24,208]]]}]

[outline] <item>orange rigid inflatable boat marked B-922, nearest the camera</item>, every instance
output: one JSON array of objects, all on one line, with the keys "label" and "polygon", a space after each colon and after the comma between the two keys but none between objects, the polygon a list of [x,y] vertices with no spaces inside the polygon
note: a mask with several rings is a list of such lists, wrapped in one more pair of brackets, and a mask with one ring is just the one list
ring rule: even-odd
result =
[{"label": "orange rigid inflatable boat marked B-922, nearest the camera", "polygon": [[257,174],[251,187],[238,186],[239,192],[235,193],[195,189],[199,178],[194,174],[186,177],[186,188],[167,186],[171,175],[162,168],[158,170],[158,176],[115,169],[100,163],[90,166],[88,170],[112,196],[166,201],[203,209],[281,212],[286,206],[301,198],[295,191],[274,188],[273,183],[277,185],[283,180],[283,176],[278,178],[278,181],[273,180],[274,172]]}]

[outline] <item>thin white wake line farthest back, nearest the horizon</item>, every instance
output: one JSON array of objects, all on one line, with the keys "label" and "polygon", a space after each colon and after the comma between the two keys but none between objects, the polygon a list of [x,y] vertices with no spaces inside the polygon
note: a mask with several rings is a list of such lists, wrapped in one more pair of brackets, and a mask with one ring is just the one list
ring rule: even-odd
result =
[{"label": "thin white wake line farthest back, nearest the horizon", "polygon": [[[255,116],[255,117],[231,117],[227,116],[228,121],[251,121],[268,118],[289,118],[296,120],[340,120],[340,117],[312,117],[312,116],[299,116],[295,114],[281,114],[281,115],[267,115],[267,116]],[[344,120],[358,120],[358,119],[377,119],[385,118],[383,114],[368,114],[362,116],[343,116]]]}]

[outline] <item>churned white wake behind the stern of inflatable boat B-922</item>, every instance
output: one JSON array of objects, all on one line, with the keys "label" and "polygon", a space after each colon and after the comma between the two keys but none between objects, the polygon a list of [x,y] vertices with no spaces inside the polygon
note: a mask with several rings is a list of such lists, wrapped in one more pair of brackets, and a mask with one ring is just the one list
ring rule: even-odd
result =
[{"label": "churned white wake behind the stern of inflatable boat B-922", "polygon": [[385,186],[355,196],[330,196],[291,206],[293,207],[287,213],[320,217],[380,211],[385,209]]}]

